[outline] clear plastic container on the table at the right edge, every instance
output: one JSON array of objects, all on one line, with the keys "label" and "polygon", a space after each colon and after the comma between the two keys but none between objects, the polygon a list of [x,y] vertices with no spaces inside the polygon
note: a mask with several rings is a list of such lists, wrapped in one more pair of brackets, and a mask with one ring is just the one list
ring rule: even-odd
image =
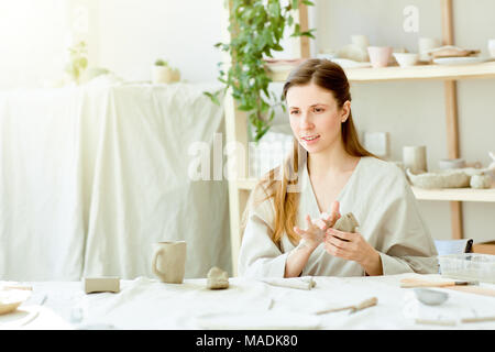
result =
[{"label": "clear plastic container on the table at the right edge", "polygon": [[495,284],[495,255],[463,253],[438,257],[442,276]]}]

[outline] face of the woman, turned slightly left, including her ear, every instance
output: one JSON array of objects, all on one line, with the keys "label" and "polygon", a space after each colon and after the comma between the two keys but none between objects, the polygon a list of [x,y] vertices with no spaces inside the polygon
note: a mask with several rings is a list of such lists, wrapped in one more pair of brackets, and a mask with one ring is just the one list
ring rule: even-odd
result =
[{"label": "face of the woman, turned slightly left, including her ear", "polygon": [[351,109],[349,101],[339,109],[333,94],[314,82],[290,87],[286,100],[293,133],[308,153],[340,143],[341,123]]}]

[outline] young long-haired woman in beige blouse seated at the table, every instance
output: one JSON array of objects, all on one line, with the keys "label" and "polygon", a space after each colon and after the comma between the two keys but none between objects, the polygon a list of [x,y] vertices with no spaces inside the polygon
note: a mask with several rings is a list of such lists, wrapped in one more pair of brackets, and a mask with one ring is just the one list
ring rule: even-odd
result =
[{"label": "young long-haired woman in beige blouse seated at the table", "polygon": [[[359,142],[343,69],[308,59],[288,77],[284,97],[294,151],[251,194],[239,274],[438,273],[433,240],[404,173]],[[358,231],[333,230],[346,212]]]}]

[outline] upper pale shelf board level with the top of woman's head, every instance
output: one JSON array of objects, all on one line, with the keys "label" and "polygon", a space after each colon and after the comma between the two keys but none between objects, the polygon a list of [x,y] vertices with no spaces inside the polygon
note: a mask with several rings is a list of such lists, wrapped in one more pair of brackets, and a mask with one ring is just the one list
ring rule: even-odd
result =
[{"label": "upper pale shelf board level with the top of woman's head", "polygon": [[[273,81],[285,81],[294,67],[271,72]],[[394,80],[457,80],[469,78],[495,78],[495,62],[472,65],[420,65],[411,67],[345,68],[352,82]]]}]

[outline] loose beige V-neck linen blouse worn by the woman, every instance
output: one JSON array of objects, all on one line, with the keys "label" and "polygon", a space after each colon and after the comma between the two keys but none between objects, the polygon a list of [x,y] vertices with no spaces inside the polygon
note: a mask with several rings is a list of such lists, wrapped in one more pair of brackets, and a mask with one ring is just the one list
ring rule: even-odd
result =
[{"label": "loose beige V-neck linen blouse worn by the woman", "polygon": [[[284,234],[278,248],[272,241],[274,204],[256,186],[249,201],[246,227],[239,255],[239,275],[284,277],[285,262],[295,245]],[[337,198],[340,213],[353,212],[358,232],[380,252],[384,275],[407,272],[438,273],[437,250],[418,210],[416,198],[403,170],[394,163],[361,157]],[[319,218],[317,200],[302,167],[297,226],[306,229],[305,216]],[[330,209],[327,210],[330,213]],[[320,244],[310,255],[301,276],[363,276],[363,267],[353,261],[332,256]]]}]

